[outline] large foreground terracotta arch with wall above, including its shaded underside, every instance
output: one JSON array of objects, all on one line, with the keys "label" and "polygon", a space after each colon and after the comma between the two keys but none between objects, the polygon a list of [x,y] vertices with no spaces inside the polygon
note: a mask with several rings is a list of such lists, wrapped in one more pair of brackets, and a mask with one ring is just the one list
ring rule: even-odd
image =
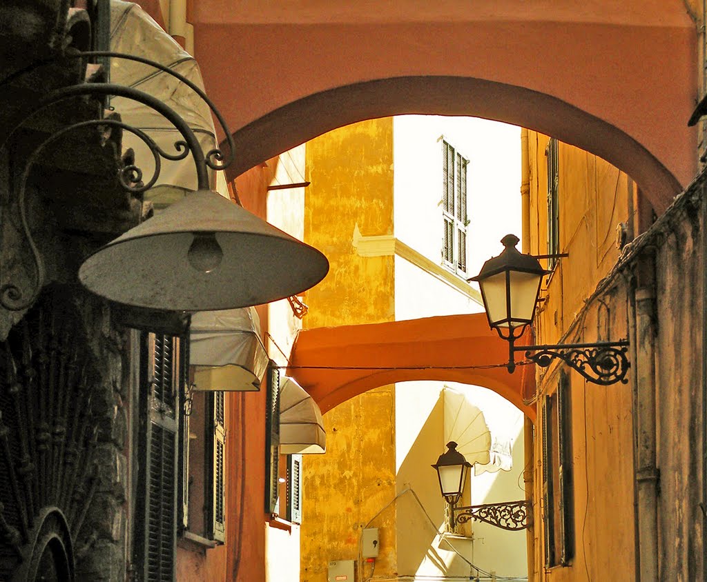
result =
[{"label": "large foreground terracotta arch with wall above, including its shaded underside", "polygon": [[529,126],[631,174],[660,212],[697,170],[698,35],[681,0],[194,2],[235,172],[404,112]]}]

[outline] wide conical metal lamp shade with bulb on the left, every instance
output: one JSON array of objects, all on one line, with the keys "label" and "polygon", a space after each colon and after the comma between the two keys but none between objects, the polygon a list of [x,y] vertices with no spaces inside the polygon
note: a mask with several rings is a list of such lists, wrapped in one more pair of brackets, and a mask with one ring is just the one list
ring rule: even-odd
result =
[{"label": "wide conical metal lamp shade with bulb on the left", "polygon": [[327,271],[317,249],[199,190],[98,249],[78,278],[119,303],[212,311],[296,295]]}]

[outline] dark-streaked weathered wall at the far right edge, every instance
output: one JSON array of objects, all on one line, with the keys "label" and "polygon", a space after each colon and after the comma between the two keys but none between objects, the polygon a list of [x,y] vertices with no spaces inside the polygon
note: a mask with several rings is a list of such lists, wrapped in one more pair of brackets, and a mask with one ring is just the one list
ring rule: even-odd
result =
[{"label": "dark-streaked weathered wall at the far right edge", "polygon": [[704,187],[684,196],[674,219],[653,237],[658,247],[658,578],[679,581],[704,576]]}]

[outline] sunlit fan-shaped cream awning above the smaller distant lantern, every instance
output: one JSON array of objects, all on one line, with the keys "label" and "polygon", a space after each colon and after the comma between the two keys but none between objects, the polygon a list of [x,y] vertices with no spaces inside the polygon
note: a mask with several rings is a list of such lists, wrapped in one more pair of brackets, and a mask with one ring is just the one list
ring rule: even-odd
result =
[{"label": "sunlit fan-shaped cream awning above the smaller distant lantern", "polygon": [[510,442],[493,437],[484,412],[452,388],[445,387],[443,395],[445,443],[455,441],[477,475],[510,470]]}]

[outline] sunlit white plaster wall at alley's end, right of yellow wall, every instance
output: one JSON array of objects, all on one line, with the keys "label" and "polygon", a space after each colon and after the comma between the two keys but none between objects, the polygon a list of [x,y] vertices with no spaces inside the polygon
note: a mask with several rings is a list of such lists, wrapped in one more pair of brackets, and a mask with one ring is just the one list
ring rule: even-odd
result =
[{"label": "sunlit white plaster wall at alley's end, right of yellow wall", "polygon": [[[441,264],[442,144],[444,137],[469,159],[467,174],[467,277],[501,251],[508,232],[520,237],[520,129],[484,119],[402,116],[394,120],[395,237]],[[462,314],[483,308],[454,287],[398,256],[395,258],[395,319]],[[496,393],[448,384],[467,394],[496,432],[513,440],[513,469],[472,477],[473,504],[524,499],[522,413]],[[444,503],[429,466],[445,451],[442,382],[397,384],[395,393],[397,489],[412,487],[431,516],[429,523],[411,494],[397,502],[400,575],[469,576],[475,571],[436,535]],[[506,532],[472,524],[472,540],[454,540],[464,558],[501,576],[525,576],[525,531]],[[423,578],[421,578],[423,579]]]}]

